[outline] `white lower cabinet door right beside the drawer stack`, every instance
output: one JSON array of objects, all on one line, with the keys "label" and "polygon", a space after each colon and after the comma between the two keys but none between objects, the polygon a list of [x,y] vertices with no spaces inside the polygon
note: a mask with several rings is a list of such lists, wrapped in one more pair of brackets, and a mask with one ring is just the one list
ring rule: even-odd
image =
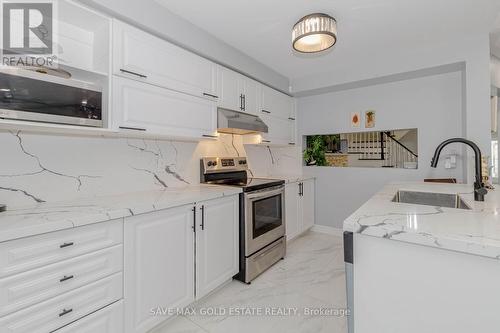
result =
[{"label": "white lower cabinet door right beside the drawer stack", "polygon": [[168,316],[152,310],[194,301],[194,206],[125,221],[125,332],[147,332]]}]

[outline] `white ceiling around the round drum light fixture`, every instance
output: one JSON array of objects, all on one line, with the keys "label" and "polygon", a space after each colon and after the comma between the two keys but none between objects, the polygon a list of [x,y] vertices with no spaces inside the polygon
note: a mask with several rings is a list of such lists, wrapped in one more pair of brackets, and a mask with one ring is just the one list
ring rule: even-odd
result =
[{"label": "white ceiling around the round drum light fixture", "polygon": [[[488,32],[500,11],[499,0],[155,1],[290,79],[324,72],[354,55]],[[295,54],[291,27],[314,12],[337,19],[338,43],[324,54]]]}]

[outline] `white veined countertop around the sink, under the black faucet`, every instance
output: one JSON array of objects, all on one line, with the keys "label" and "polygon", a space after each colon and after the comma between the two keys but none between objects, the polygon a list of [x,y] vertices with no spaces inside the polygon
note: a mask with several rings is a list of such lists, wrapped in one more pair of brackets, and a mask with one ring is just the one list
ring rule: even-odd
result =
[{"label": "white veined countertop around the sink, under the black faucet", "polygon": [[[459,194],[471,210],[392,202],[398,190]],[[500,259],[500,190],[484,202],[472,185],[394,183],[344,221],[344,230]]]}]

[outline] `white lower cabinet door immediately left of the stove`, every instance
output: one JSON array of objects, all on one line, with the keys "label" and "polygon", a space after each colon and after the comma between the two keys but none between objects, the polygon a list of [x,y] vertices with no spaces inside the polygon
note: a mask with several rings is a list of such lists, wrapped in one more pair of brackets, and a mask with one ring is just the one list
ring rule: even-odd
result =
[{"label": "white lower cabinet door immediately left of the stove", "polygon": [[197,204],[196,298],[207,295],[239,271],[238,195]]}]

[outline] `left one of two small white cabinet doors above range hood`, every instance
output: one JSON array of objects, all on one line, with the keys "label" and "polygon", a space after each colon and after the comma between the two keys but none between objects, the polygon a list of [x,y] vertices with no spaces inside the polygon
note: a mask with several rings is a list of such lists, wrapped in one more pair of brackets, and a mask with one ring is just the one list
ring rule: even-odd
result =
[{"label": "left one of two small white cabinet doors above range hood", "polygon": [[244,82],[241,74],[222,66],[217,66],[217,86],[221,108],[243,112]]}]

